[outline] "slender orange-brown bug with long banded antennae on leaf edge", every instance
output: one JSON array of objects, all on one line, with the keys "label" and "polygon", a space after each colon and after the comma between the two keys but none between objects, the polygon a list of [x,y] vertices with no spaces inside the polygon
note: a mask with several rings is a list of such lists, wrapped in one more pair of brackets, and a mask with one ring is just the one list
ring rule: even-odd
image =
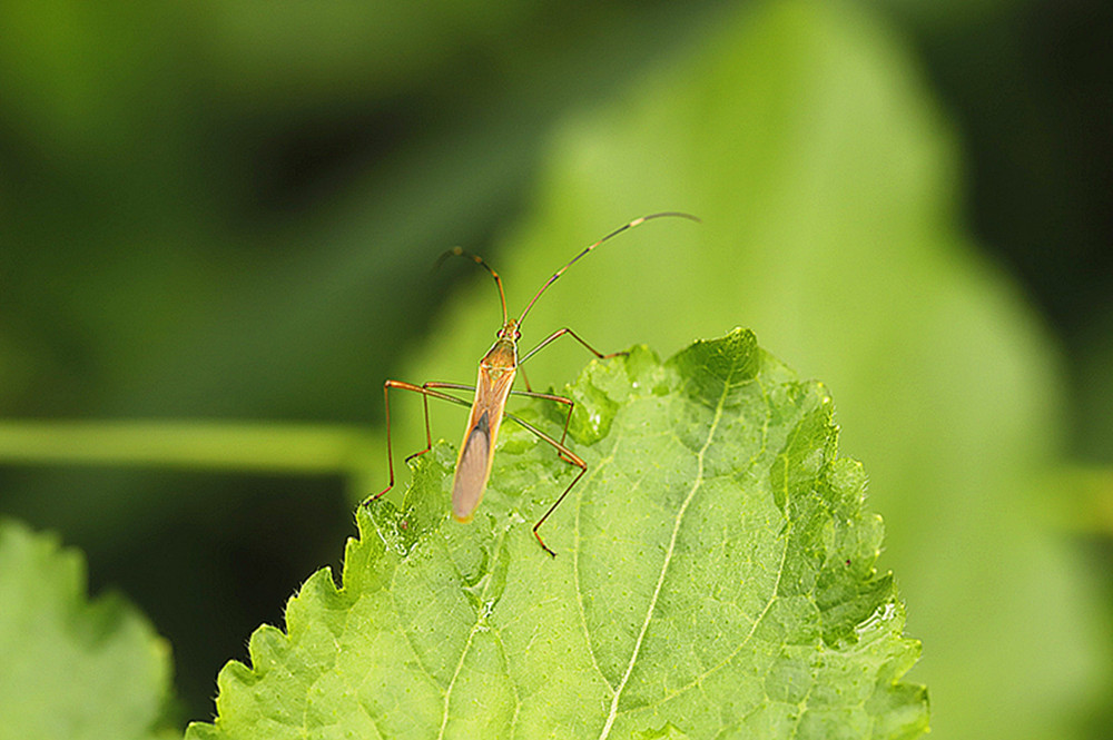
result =
[{"label": "slender orange-brown bug with long banded antennae on leaf edge", "polygon": [[[608,239],[618,236],[627,229],[631,229],[639,226],[648,220],[654,218],[664,217],[677,217],[687,218],[693,221],[699,221],[699,219],[690,214],[683,214],[679,211],[664,211],[660,214],[651,214],[649,216],[642,216],[641,218],[636,218],[626,226],[619,227],[599,239],[594,244],[588,246],[580,254],[572,257],[563,267],[553,273],[541,289],[534,294],[530,303],[525,305],[521,315],[518,318],[510,318],[506,313],[506,294],[502,289],[502,278],[499,274],[491,268],[481,257],[464,251],[460,247],[450,249],[449,251],[441,255],[441,259],[437,260],[437,265],[444,259],[452,256],[465,257],[473,260],[480,267],[484,268],[494,278],[495,286],[499,288],[499,299],[502,302],[502,328],[499,329],[498,338],[491,349],[483,356],[480,361],[479,379],[474,386],[461,385],[457,383],[440,383],[430,382],[422,385],[414,385],[413,383],[406,383],[404,381],[386,381],[383,384],[383,398],[386,408],[386,461],[390,470],[391,481],[390,484],[378,494],[370,496],[364,505],[370,505],[371,503],[377,501],[384,496],[391,489],[394,487],[394,455],[391,451],[391,389],[396,388],[400,391],[412,391],[414,393],[420,393],[425,405],[425,448],[416,452],[408,457],[405,462],[410,462],[418,455],[423,455],[433,447],[433,437],[430,433],[429,426],[429,399],[439,398],[441,401],[447,401],[450,403],[459,404],[461,406],[471,406],[471,415],[467,418],[467,430],[464,433],[464,441],[460,447],[460,455],[456,458],[456,472],[452,482],[452,515],[459,522],[470,522],[472,520],[472,514],[474,513],[476,506],[479,506],[480,501],[483,499],[483,492],[486,490],[487,478],[491,476],[491,463],[494,460],[494,445],[495,440],[499,436],[499,427],[502,425],[503,417],[508,417],[521,426],[525,427],[528,431],[536,435],[544,442],[548,442],[553,447],[556,448],[556,453],[561,460],[570,465],[574,465],[580,468],[580,472],[572,480],[572,482],[564,489],[564,492],[560,494],[552,506],[544,513],[538,523],[533,525],[533,536],[538,539],[538,543],[541,547],[552,555],[556,556],[549,545],[545,544],[544,540],[538,533],[538,530],[544,524],[549,515],[555,511],[556,506],[564,501],[569,491],[583,477],[583,474],[588,472],[588,465],[583,460],[572,452],[565,444],[564,440],[568,437],[568,425],[572,418],[572,410],[575,403],[571,398],[565,398],[564,396],[554,395],[551,393],[534,393],[530,388],[529,381],[525,379],[523,373],[523,379],[525,379],[525,391],[514,391],[514,378],[518,375],[518,371],[521,365],[528,361],[530,357],[535,355],[542,348],[546,347],[552,342],[558,338],[568,335],[573,339],[583,345],[588,352],[595,355],[600,359],[605,359],[608,357],[614,357],[618,355],[624,355],[624,352],[615,352],[609,355],[604,355],[592,347],[590,344],[580,338],[570,328],[560,328],[550,334],[548,337],[541,341],[538,346],[530,349],[528,353],[518,356],[518,341],[521,338],[521,327],[522,322],[525,320],[526,314],[533,308],[533,304],[536,303],[541,294],[549,288],[550,285],[556,282],[556,279],[564,274],[569,267],[571,267],[578,259],[587,255],[589,251],[603,244]],[[474,393],[474,399],[469,404],[467,401],[459,398],[454,395],[445,393],[445,391],[467,391]],[[505,411],[506,398],[511,395],[525,396],[530,398],[540,398],[544,401],[552,401],[559,404],[568,406],[568,414],[564,417],[564,430],[561,433],[560,441],[550,436],[545,432],[542,432],[538,427],[533,426],[529,422],[515,416],[514,414],[508,413]]]}]

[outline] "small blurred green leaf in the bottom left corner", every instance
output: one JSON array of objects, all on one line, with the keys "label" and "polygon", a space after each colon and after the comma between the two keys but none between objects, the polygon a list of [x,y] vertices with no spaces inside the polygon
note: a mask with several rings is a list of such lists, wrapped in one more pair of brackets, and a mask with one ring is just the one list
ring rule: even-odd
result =
[{"label": "small blurred green leaf in the bottom left corner", "polygon": [[85,591],[78,552],[0,521],[0,736],[156,737],[167,644],[121,599]]}]

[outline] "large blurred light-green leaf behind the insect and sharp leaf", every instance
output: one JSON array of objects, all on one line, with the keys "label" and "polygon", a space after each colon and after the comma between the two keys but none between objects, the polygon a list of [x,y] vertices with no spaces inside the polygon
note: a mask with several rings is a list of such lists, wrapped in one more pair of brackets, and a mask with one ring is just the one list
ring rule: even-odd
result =
[{"label": "large blurred light-green leaf behind the insect and sharp leaf", "polygon": [[[964,236],[955,147],[906,53],[850,7],[770,3],[634,90],[564,129],[503,279],[524,300],[618,214],[682,208],[705,225],[609,243],[523,330],[567,325],[607,351],[669,352],[739,323],[771,337],[829,383],[846,448],[869,461],[933,727],[1081,730],[1107,645],[1047,516],[1058,492],[1038,487],[1064,464],[1055,351]],[[493,326],[475,318],[493,313],[483,283],[405,377],[466,372]],[[531,361],[531,379],[568,377],[582,355],[568,352]]]}]

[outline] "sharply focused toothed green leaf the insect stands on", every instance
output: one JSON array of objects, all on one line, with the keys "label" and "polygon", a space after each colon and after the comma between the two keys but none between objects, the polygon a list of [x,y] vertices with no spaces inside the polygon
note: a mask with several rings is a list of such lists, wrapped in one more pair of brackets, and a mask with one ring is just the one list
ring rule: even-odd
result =
[{"label": "sharply focused toothed green leaf the insect stands on", "polygon": [[[417,458],[329,571],[219,677],[190,738],[915,737],[920,687],[865,475],[831,399],[735,330],[644,347],[568,388],[588,473],[513,423],[472,524],[455,455]],[[603,403],[599,403],[603,399]],[[521,415],[556,426],[560,410]],[[601,430],[605,430],[601,432]],[[598,438],[597,438],[598,437]]]}]

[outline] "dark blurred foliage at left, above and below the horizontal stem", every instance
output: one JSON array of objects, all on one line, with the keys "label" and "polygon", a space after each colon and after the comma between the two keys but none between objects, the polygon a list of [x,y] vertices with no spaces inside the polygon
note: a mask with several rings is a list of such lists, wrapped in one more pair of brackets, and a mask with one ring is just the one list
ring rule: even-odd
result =
[{"label": "dark blurred foliage at left, above and below the horizontal stem", "polygon": [[[617,43],[621,8],[536,6],[492,24],[455,7],[471,34],[402,23],[417,31],[390,28],[407,52],[388,57],[381,6],[309,16],[370,29],[363,57],[337,55],[293,4],[2,3],[3,413],[380,425],[382,381],[447,280],[427,279],[436,255],[522,207],[563,110],[702,18],[647,6]],[[4,512],[88,551],[95,584],[147,594],[195,717],[244,635],[337,556],[343,494],[134,468],[9,467],[0,482]]]}]

